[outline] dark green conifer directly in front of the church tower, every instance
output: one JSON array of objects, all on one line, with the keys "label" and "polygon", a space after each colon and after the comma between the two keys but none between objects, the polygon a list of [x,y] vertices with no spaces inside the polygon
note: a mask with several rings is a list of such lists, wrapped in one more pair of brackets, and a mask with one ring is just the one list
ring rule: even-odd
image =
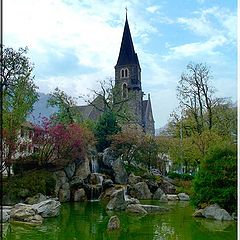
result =
[{"label": "dark green conifer directly in front of the church tower", "polygon": [[111,136],[119,131],[116,115],[112,111],[104,112],[97,121],[94,131],[97,150],[102,152],[109,147],[112,142]]}]

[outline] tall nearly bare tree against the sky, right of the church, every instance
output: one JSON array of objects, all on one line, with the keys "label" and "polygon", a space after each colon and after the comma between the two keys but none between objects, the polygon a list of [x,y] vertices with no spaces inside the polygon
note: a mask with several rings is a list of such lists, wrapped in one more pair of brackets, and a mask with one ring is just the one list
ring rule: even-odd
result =
[{"label": "tall nearly bare tree against the sky, right of the church", "polygon": [[[214,89],[210,86],[209,67],[202,63],[189,63],[187,73],[182,73],[177,87],[177,96],[183,111],[193,118],[196,131],[212,128],[212,108],[215,104]],[[204,113],[206,113],[204,116]]]}]

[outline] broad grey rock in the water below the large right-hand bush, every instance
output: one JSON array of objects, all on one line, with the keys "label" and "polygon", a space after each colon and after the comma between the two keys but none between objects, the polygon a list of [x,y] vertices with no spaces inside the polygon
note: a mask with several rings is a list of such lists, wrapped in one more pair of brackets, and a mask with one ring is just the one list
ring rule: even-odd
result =
[{"label": "broad grey rock in the water below the large right-hand bush", "polygon": [[230,214],[223,208],[220,208],[217,204],[210,205],[203,209],[202,215],[205,218],[211,218],[216,220],[225,220],[225,221],[231,221],[233,218],[230,216]]}]

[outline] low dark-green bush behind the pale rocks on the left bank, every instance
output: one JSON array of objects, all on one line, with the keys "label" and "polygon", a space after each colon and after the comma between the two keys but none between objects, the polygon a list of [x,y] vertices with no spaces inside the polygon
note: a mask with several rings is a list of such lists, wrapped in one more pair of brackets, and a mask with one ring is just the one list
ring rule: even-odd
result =
[{"label": "low dark-green bush behind the pale rocks on the left bank", "polygon": [[[37,193],[53,196],[55,189],[55,178],[48,171],[24,172],[3,181],[3,201],[9,199],[12,202],[24,200]],[[23,193],[26,193],[23,195]]]}]

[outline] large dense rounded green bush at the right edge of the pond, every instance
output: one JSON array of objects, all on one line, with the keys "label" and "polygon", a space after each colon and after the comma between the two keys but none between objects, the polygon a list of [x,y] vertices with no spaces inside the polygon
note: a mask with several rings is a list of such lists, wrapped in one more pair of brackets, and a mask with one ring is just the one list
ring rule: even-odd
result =
[{"label": "large dense rounded green bush at the right edge of the pond", "polygon": [[222,142],[207,152],[194,181],[193,204],[217,203],[226,210],[237,209],[237,149]]}]

